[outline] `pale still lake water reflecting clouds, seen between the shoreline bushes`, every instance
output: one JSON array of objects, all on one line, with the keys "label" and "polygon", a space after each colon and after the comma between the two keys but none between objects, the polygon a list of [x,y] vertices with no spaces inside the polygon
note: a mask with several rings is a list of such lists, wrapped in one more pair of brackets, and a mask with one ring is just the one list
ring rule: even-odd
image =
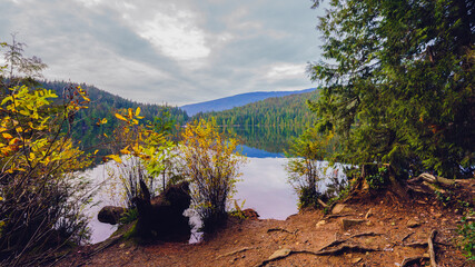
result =
[{"label": "pale still lake water reflecting clouds, seen between the shoreline bushes", "polygon": [[[284,168],[288,159],[284,158],[281,154],[271,154],[246,146],[243,146],[243,154],[248,156],[248,161],[241,167],[243,176],[236,184],[237,192],[234,199],[238,205],[245,200],[243,209],[255,209],[261,219],[286,219],[296,214],[298,211],[297,196],[287,182],[287,174]],[[89,170],[87,176],[97,185],[107,184],[109,182],[107,172],[111,166],[111,162],[100,165]],[[120,205],[120,194],[111,192],[110,187],[108,188],[96,196],[95,201],[100,201],[100,204],[87,211],[91,217],[92,244],[107,239],[117,229],[117,226],[97,220],[97,214],[103,206]],[[321,185],[320,189],[324,188],[325,186]]]}]

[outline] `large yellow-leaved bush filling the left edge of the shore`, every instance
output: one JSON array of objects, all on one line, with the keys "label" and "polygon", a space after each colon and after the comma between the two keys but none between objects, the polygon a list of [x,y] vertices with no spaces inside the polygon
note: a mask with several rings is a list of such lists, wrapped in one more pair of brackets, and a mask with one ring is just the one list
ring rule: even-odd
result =
[{"label": "large yellow-leaved bush filling the left edge of the shore", "polygon": [[52,103],[52,91],[26,86],[10,88],[2,98],[1,264],[47,260],[55,249],[88,237],[81,208],[91,196],[88,182],[73,171],[91,160],[72,144],[69,129],[89,99],[80,87],[67,92],[62,105]]}]

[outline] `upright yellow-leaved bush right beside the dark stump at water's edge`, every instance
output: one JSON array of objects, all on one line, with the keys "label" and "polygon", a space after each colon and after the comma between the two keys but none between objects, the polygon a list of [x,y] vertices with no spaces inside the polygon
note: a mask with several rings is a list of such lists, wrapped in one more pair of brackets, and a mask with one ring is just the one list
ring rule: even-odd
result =
[{"label": "upright yellow-leaved bush right beside the dark stump at water's edge", "polygon": [[191,181],[191,198],[202,229],[209,233],[226,220],[226,205],[245,158],[235,152],[237,140],[227,139],[214,121],[188,123],[182,139],[184,174]]}]

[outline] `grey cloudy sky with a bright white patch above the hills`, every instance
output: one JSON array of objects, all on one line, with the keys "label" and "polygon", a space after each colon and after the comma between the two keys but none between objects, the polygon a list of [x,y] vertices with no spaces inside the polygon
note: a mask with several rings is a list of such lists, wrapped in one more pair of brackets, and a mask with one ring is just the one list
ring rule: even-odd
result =
[{"label": "grey cloudy sky with a bright white patch above the hills", "polygon": [[0,41],[26,42],[44,78],[181,106],[314,87],[310,0],[0,0]]}]

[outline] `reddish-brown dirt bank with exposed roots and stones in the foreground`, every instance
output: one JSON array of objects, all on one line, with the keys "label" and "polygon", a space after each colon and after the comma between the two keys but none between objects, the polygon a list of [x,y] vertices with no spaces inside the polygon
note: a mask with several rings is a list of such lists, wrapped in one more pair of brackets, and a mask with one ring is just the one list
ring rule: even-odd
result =
[{"label": "reddish-brown dirt bank with exposed roots and stones in the foreground", "polygon": [[[226,228],[195,245],[109,239],[80,247],[56,266],[402,266],[405,258],[429,256],[425,243],[433,230],[437,266],[475,266],[457,246],[462,215],[434,199],[403,204],[382,196],[333,211],[305,210],[286,220],[231,218]],[[344,219],[362,221],[344,229]],[[321,250],[335,240],[343,243]],[[311,254],[339,248],[330,255]],[[276,251],[280,258],[268,260]],[[429,259],[406,266],[429,266]]]}]

